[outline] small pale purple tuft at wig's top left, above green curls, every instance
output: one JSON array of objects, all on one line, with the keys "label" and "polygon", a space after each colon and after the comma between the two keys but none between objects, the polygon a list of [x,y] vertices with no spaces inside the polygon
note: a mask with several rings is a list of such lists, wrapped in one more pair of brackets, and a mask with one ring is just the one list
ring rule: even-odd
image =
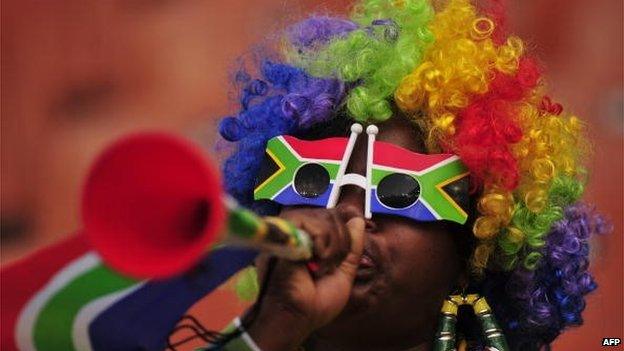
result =
[{"label": "small pale purple tuft at wig's top left, above green curls", "polygon": [[295,48],[304,50],[326,44],[332,38],[342,37],[357,28],[357,24],[340,18],[311,17],[290,27],[287,35]]}]

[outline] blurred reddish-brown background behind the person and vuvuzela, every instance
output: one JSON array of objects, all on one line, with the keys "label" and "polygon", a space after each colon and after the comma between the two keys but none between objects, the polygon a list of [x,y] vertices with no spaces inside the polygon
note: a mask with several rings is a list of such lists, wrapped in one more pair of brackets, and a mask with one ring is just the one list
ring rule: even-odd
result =
[{"label": "blurred reddish-brown background behind the person and vuvuzela", "polygon": [[[115,138],[165,129],[212,148],[217,118],[235,110],[236,59],[304,14],[345,12],[350,3],[2,0],[0,263],[80,227],[81,183]],[[547,68],[552,96],[588,122],[594,155],[586,199],[615,227],[594,242],[600,288],[588,298],[586,324],[554,350],[599,350],[603,337],[624,335],[622,6],[523,0],[509,11],[512,31]],[[194,313],[218,327],[243,307],[222,289]]]}]

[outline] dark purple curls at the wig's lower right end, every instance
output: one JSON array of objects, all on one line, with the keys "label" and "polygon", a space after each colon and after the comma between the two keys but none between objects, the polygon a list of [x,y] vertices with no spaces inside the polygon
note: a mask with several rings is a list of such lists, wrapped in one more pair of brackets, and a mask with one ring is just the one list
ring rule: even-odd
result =
[{"label": "dark purple curls at the wig's lower right end", "polygon": [[597,287],[588,271],[589,239],[608,231],[590,206],[576,203],[552,226],[535,271],[518,267],[488,274],[485,295],[514,349],[538,349],[566,327],[583,323],[585,295]]}]

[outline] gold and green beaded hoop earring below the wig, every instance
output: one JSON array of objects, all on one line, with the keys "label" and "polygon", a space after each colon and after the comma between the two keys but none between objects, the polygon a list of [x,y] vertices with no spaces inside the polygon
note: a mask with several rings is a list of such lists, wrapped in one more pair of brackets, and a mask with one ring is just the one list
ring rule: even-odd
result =
[{"label": "gold and green beaded hoop earring below the wig", "polygon": [[478,294],[450,295],[442,305],[438,332],[434,343],[434,351],[454,351],[455,350],[455,326],[457,324],[457,311],[459,306],[472,306],[481,330],[485,335],[486,346],[489,351],[509,351],[507,340],[499,327],[492,309],[485,301],[485,298]]}]

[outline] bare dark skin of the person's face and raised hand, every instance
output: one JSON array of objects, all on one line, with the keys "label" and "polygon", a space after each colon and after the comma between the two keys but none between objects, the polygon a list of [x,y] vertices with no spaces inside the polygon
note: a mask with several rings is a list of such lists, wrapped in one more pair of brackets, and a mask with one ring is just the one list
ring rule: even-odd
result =
[{"label": "bare dark skin of the person's face and raised hand", "polygon": [[[424,153],[405,118],[378,124],[377,140]],[[366,136],[348,172],[365,174]],[[457,233],[443,222],[364,218],[364,190],[343,187],[335,209],[286,207],[313,238],[318,272],[278,260],[249,334],[263,350],[430,350],[439,310],[466,279]],[[260,275],[266,258],[258,262]]]}]

